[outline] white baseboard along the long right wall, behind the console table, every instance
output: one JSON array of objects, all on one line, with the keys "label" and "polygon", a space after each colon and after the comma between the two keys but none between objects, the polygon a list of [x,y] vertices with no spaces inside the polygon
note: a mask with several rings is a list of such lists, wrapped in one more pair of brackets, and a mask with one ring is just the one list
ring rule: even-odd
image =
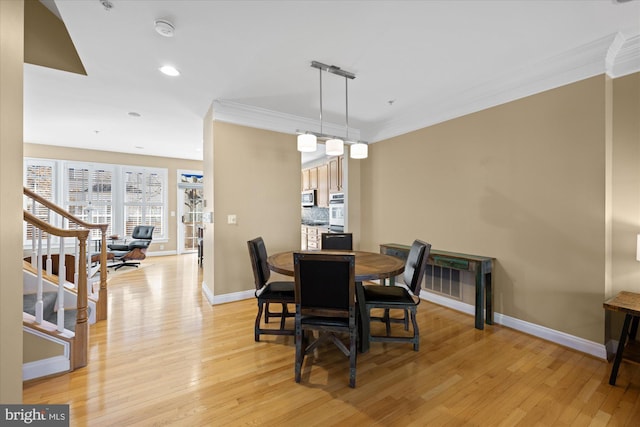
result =
[{"label": "white baseboard along the long right wall, behind the console table", "polygon": [[[420,298],[438,305],[445,306],[447,308],[451,308],[456,311],[470,314],[472,316],[475,315],[475,306],[471,304],[453,300],[451,298],[443,297],[431,292],[421,292]],[[599,359],[607,359],[607,349],[603,344],[598,344],[593,341],[569,335],[565,332],[556,331],[545,326],[536,325],[534,323],[506,316],[501,313],[494,312],[493,321],[494,323],[497,323],[499,325],[503,325],[517,331],[554,342],[556,344],[560,344],[562,346],[580,351],[582,353],[587,353]]]}]

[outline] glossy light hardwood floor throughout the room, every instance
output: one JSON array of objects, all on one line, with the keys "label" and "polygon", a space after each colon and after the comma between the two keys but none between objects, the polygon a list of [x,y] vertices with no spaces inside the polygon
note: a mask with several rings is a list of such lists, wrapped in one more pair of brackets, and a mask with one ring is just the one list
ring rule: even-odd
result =
[{"label": "glossy light hardwood floor throughout the room", "polygon": [[425,301],[419,352],[372,343],[350,389],[327,346],[296,384],[293,338],[253,340],[255,300],[209,305],[195,256],[143,262],[110,280],[89,365],[25,383],[24,403],[70,404],[72,426],[640,425],[640,367],[612,387],[605,361]]}]

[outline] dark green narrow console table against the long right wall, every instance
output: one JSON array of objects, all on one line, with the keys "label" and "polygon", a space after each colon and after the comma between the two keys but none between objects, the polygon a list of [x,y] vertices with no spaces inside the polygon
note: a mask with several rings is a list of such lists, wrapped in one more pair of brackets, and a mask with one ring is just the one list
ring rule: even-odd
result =
[{"label": "dark green narrow console table against the long right wall", "polygon": [[[380,253],[396,256],[404,260],[409,255],[410,246],[397,243],[385,243],[380,245]],[[456,252],[431,249],[429,260],[431,265],[453,268],[454,270],[466,270],[475,273],[476,279],[476,329],[484,329],[484,322],[493,325],[493,292],[491,283],[491,271],[494,258],[461,254]],[[486,304],[486,319],[484,306]]]}]

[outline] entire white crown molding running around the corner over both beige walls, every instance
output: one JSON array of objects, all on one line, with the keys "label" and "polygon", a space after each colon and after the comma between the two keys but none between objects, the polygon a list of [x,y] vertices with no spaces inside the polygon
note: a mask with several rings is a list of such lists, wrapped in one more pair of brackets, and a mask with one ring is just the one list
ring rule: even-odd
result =
[{"label": "entire white crown molding running around the corner over both beige walls", "polygon": [[[490,81],[429,99],[414,111],[366,128],[349,128],[354,140],[374,143],[607,73],[612,78],[640,71],[640,29],[609,34],[542,61],[510,69]],[[215,100],[214,119],[283,133],[316,131],[318,120],[228,100]],[[323,122],[323,133],[343,135],[344,125]]]}]

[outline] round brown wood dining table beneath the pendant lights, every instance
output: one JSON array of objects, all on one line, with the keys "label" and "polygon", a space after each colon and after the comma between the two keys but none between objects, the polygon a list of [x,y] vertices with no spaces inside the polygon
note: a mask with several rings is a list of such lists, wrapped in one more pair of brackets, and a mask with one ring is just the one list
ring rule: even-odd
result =
[{"label": "round brown wood dining table beneath the pendant lights", "polygon": [[[379,254],[376,252],[366,251],[287,251],[270,255],[267,258],[267,264],[271,271],[284,274],[285,276],[294,276],[295,269],[293,265],[294,252],[310,252],[310,253],[353,253],[356,256],[355,280],[356,280],[356,298],[358,301],[364,301],[364,292],[362,282],[367,280],[387,279],[395,277],[404,271],[404,260],[391,255]],[[360,351],[365,353],[369,350],[369,315],[366,312],[364,304],[358,304],[360,312],[359,335],[360,335]]]}]

